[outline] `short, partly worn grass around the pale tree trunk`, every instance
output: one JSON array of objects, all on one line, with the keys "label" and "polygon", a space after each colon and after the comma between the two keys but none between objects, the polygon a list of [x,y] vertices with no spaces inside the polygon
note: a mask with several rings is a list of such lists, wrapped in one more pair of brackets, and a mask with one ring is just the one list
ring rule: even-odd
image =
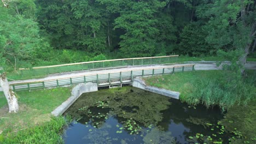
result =
[{"label": "short, partly worn grass around the pale tree trunk", "polygon": [[71,95],[71,88],[39,89],[16,94],[19,101],[17,113],[8,113],[8,109],[4,107],[0,109],[2,137],[49,122],[52,119],[50,112],[68,99]]}]

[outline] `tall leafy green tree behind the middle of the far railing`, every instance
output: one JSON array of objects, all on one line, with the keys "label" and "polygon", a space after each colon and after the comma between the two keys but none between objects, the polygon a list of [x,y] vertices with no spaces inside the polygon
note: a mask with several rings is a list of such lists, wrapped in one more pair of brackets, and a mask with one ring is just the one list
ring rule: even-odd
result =
[{"label": "tall leafy green tree behind the middle of the far railing", "polygon": [[[124,29],[121,35],[120,47],[125,57],[152,56],[156,49],[154,36],[159,30],[154,27],[156,19],[154,13],[165,6],[165,2],[154,0],[152,2],[112,2],[102,1],[108,7],[121,7],[120,16],[115,19],[115,29]],[[132,10],[131,10],[132,9]]]}]

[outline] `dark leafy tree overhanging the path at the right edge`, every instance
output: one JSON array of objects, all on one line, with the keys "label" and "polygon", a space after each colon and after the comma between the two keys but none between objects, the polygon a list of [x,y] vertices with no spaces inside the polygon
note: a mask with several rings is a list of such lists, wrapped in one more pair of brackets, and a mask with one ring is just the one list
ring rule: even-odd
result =
[{"label": "dark leafy tree overhanging the path at the right edge", "polygon": [[[206,20],[207,43],[225,52],[239,51],[240,74],[244,74],[246,57],[255,37],[255,1],[206,1],[197,9],[197,15]],[[222,52],[223,53],[223,52]],[[226,53],[228,54],[228,53]],[[234,56],[236,58],[237,55]],[[232,62],[235,65],[236,62]]]}]

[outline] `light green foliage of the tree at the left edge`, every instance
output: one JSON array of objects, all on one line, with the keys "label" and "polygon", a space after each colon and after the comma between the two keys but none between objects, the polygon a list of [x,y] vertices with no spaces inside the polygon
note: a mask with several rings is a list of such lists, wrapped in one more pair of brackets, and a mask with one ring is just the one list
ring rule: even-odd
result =
[{"label": "light green foliage of the tree at the left edge", "polygon": [[38,57],[37,51],[49,49],[49,45],[40,38],[36,22],[21,15],[10,15],[10,11],[0,8],[0,62],[16,69],[26,61],[28,67]]}]

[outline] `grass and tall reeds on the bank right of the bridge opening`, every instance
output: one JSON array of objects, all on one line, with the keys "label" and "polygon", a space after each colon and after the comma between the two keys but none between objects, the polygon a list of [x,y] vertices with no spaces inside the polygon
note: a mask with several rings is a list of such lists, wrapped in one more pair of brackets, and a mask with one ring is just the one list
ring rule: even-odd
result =
[{"label": "grass and tall reeds on the bank right of the bridge opening", "polygon": [[222,70],[187,71],[144,80],[147,85],[180,92],[180,99],[190,105],[219,105],[225,110],[235,103],[246,105],[256,93],[255,74],[248,78],[251,82],[236,80],[230,74]]}]

